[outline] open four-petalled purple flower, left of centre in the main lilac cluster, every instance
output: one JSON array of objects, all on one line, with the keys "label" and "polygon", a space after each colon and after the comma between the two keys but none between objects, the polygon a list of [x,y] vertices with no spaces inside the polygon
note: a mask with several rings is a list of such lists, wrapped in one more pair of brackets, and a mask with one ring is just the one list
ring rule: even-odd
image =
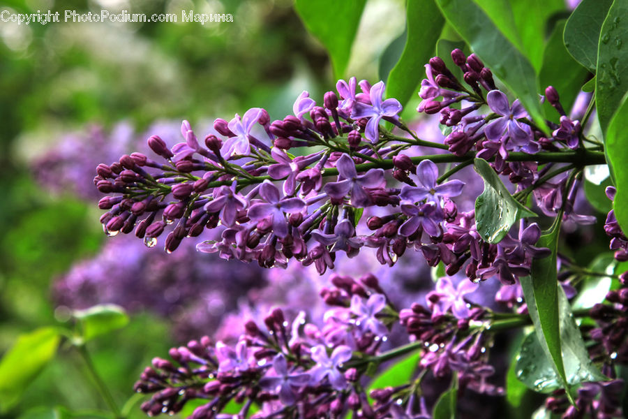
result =
[{"label": "open four-petalled purple flower, left of centre in the main lilac cluster", "polygon": [[288,233],[288,224],[285,212],[299,212],[306,203],[301,198],[281,198],[279,190],[274,184],[265,180],[260,186],[260,195],[267,203],[256,203],[248,209],[248,216],[253,221],[260,221],[271,217],[273,231],[278,237],[285,237]]}]

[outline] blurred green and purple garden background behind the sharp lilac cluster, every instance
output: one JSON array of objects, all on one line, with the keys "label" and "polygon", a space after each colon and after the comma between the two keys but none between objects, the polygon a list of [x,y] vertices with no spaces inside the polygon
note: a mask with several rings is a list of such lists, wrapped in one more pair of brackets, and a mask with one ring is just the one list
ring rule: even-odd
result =
[{"label": "blurred green and purple garden background behind the sharp lilac cluster", "polygon": [[[283,118],[301,91],[321,98],[334,87],[329,61],[289,0],[17,0],[1,1],[2,10],[233,15],[204,25],[0,22],[0,353],[21,333],[68,321],[70,309],[120,304],[130,323],[89,349],[121,405],[153,356],[268,299],[269,274],[198,256],[193,245],[166,258],[140,240],[105,240],[94,168],[145,150],[154,133],[179,142],[181,119],[204,135],[214,118],[253,106]],[[347,73],[379,80],[380,55],[404,27],[403,1],[368,1]],[[278,277],[299,281],[291,275]],[[0,400],[0,418],[106,409],[86,377],[62,344],[20,402]]]}]

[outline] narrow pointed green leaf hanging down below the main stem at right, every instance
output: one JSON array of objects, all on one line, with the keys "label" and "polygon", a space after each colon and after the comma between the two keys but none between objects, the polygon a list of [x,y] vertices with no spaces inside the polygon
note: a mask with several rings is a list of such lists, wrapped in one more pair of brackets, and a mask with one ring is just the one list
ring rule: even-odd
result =
[{"label": "narrow pointed green leaf hanging down below the main stem at right", "polygon": [[[565,364],[562,360],[560,343],[560,310],[558,307],[558,272],[556,269],[556,253],[558,252],[558,235],[560,219],[553,229],[541,235],[537,247],[548,247],[551,256],[532,260],[530,277],[522,277],[521,288],[528,313],[534,323],[534,330],[548,362],[560,377],[562,386],[568,389]],[[569,394],[569,391],[567,391]]]}]

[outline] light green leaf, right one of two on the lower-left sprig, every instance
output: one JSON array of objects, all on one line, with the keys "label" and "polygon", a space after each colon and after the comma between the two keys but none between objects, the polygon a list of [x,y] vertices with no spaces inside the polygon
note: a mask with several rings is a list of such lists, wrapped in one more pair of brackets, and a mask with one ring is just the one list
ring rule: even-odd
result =
[{"label": "light green leaf, right one of two on the lower-left sprig", "polygon": [[75,310],[73,316],[80,323],[80,343],[124,328],[128,323],[126,311],[116,304],[98,304],[89,309]]}]

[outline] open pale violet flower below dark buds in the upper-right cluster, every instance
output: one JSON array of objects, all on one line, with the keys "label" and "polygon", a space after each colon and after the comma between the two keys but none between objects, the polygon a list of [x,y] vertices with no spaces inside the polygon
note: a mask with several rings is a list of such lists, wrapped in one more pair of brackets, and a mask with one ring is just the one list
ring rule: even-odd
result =
[{"label": "open pale violet flower below dark buds in the upper-right cluster", "polygon": [[518,118],[528,117],[528,112],[525,112],[525,108],[518,99],[512,103],[511,107],[505,94],[499,90],[491,90],[486,95],[486,102],[493,112],[500,115],[484,128],[484,134],[488,140],[499,141],[504,131],[518,145],[530,140],[530,132],[517,121]]}]

